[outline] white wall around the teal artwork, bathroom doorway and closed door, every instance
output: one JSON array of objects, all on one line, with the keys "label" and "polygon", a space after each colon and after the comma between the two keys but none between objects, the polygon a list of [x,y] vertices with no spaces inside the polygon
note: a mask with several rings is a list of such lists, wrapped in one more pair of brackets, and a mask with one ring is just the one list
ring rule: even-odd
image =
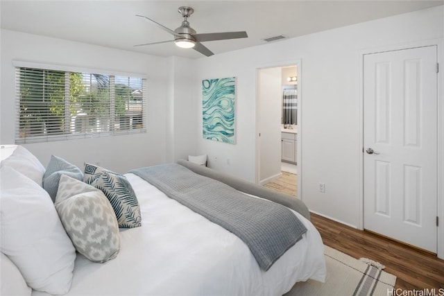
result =
[{"label": "white wall around the teal artwork, bathroom doorway and closed door", "polygon": [[[264,65],[300,60],[302,200],[312,211],[359,225],[359,53],[443,38],[443,28],[443,6],[438,6],[199,59],[198,80],[237,77],[237,144],[199,137],[199,152],[210,155],[212,167],[254,182],[255,71]],[[201,105],[197,109],[200,116]],[[230,164],[225,158],[231,159]],[[325,193],[318,191],[318,182],[325,183]]]}]

